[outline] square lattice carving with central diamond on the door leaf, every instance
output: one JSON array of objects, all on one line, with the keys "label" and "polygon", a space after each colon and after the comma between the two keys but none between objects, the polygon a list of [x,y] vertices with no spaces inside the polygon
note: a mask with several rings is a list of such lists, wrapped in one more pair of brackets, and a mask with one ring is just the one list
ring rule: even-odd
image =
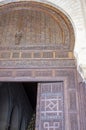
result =
[{"label": "square lattice carving with central diamond on the door leaf", "polygon": [[[50,94],[50,93],[49,93]],[[51,98],[52,97],[52,98]],[[61,96],[53,96],[52,94],[48,96],[47,94],[41,99],[41,105],[44,104],[44,110],[42,111],[42,116],[47,116],[48,114],[52,117],[52,114],[61,118],[62,110],[60,109],[60,104],[62,104]],[[42,106],[43,107],[43,106]],[[43,109],[43,108],[42,108]]]}]

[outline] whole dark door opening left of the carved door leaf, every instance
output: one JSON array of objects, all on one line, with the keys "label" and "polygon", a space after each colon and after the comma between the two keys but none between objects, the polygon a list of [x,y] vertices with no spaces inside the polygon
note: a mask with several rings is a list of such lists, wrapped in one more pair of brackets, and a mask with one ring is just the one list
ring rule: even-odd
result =
[{"label": "whole dark door opening left of the carved door leaf", "polygon": [[[0,129],[34,130],[36,120],[36,82],[0,84]],[[6,127],[6,128],[5,128]]]}]

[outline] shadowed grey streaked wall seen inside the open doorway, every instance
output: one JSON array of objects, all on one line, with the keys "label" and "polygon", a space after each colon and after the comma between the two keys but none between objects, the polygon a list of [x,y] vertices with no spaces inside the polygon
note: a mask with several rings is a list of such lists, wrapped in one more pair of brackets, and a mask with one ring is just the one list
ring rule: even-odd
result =
[{"label": "shadowed grey streaked wall seen inside the open doorway", "polygon": [[21,83],[0,84],[0,130],[26,130],[32,112]]}]

